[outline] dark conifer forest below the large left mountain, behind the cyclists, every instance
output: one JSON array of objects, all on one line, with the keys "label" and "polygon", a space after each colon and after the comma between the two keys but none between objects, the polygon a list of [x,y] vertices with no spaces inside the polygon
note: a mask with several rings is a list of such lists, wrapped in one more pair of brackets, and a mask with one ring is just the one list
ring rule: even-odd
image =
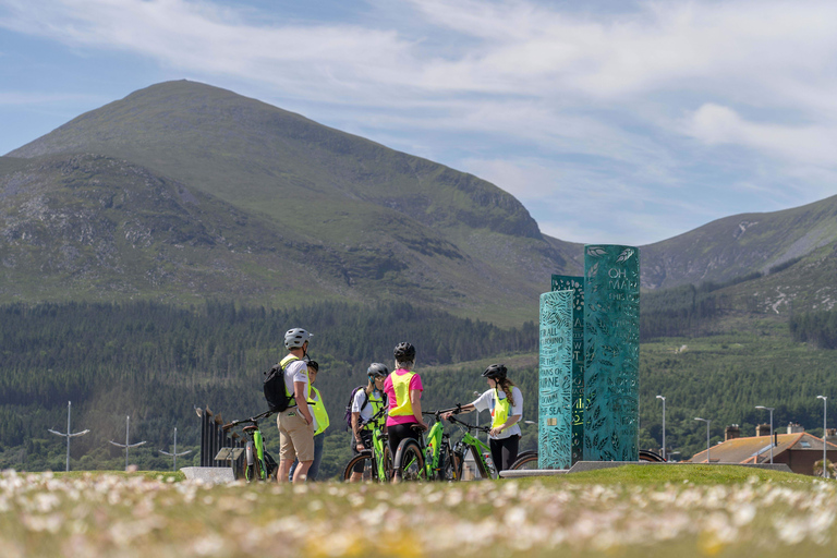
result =
[{"label": "dark conifer forest below the large left mountain, behind the cyclists", "polygon": [[[311,356],[320,363],[318,384],[332,422],[342,420],[343,399],[365,383],[369,363],[391,365],[399,341],[416,345],[418,366],[426,367],[535,352],[538,339],[533,323],[501,329],[393,302],[290,310],[217,301],[189,308],[153,302],[5,305],[0,307],[0,466],[63,469],[65,440],[47,428],[63,432],[72,401],[74,428],[92,430],[72,440],[75,466],[124,466],[123,450],[107,441],[124,441],[131,415],[131,441],[148,441],[147,449],[132,452],[137,464],[167,469],[170,459],[157,450],[171,451],[174,427],[179,450],[197,449],[195,407],[209,407],[225,420],[265,409],[262,373],[286,353],[284,331],[296,326],[314,333]],[[483,387],[476,372],[482,371],[428,378],[439,393],[428,407],[457,393],[465,401]],[[536,377],[535,371],[529,374]],[[348,442],[337,442],[337,426],[331,430],[333,451],[345,446],[348,460]],[[266,436],[278,444],[275,427]]]}]

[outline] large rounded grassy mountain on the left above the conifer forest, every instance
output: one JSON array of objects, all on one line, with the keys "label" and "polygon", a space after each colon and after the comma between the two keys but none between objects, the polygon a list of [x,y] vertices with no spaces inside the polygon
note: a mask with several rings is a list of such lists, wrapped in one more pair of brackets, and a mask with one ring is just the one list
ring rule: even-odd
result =
[{"label": "large rounded grassy mountain on the left above the conifer forest", "polygon": [[0,198],[5,302],[401,299],[514,324],[581,272],[484,180],[186,81],[0,158]]}]

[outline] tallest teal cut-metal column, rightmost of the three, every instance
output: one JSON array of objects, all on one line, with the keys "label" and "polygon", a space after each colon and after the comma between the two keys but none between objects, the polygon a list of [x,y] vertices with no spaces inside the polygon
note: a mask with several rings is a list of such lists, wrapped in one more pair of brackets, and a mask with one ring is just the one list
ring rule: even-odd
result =
[{"label": "tallest teal cut-metal column, rightmost of the three", "polygon": [[584,460],[638,461],[640,250],[584,246]]}]

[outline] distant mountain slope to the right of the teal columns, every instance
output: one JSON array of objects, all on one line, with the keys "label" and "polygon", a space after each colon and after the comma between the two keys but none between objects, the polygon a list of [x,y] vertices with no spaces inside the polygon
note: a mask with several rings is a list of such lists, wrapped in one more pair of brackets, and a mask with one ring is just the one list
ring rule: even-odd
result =
[{"label": "distant mountain slope to the right of the teal columns", "polygon": [[837,196],[726,217],[642,246],[642,266],[648,290],[729,283],[723,291],[739,307],[830,310],[837,302]]}]

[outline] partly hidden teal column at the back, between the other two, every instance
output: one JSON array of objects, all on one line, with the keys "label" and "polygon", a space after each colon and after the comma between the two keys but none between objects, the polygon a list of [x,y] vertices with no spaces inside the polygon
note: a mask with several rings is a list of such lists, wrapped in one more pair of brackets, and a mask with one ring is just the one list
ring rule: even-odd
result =
[{"label": "partly hidden teal column at the back, between the other two", "polygon": [[572,463],[584,448],[584,278],[553,276],[553,291],[572,291]]}]

